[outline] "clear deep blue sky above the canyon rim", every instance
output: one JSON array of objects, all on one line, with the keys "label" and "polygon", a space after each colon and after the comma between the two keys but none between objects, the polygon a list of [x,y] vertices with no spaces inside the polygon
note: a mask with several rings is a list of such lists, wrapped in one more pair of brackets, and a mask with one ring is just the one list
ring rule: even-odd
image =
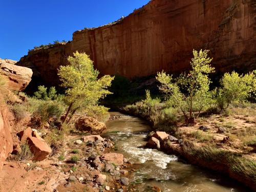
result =
[{"label": "clear deep blue sky above the canyon rim", "polygon": [[84,27],[127,16],[149,0],[0,0],[0,58],[19,60],[29,49],[72,40]]}]

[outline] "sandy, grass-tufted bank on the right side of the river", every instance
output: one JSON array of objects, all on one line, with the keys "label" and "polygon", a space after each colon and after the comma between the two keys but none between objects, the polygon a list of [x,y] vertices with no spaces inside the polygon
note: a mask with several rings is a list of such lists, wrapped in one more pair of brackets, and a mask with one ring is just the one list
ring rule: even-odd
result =
[{"label": "sandy, grass-tufted bank on the right side of the river", "polygon": [[[242,109],[234,110],[239,113],[228,117],[211,115],[200,118],[195,126],[187,127],[180,124],[175,126],[175,129],[171,127],[172,134],[182,142],[165,140],[161,142],[161,150],[175,154],[191,164],[228,175],[255,191],[255,146],[248,142],[251,141],[249,136],[255,135],[256,132],[254,109],[248,114],[241,111]],[[142,113],[129,110],[122,112],[148,120],[141,115]]]}]

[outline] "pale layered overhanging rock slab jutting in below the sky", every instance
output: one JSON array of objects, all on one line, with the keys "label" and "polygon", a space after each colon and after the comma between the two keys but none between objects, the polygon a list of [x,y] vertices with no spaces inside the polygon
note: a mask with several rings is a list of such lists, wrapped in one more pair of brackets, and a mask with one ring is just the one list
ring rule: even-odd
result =
[{"label": "pale layered overhanging rock slab jutting in below the sky", "polygon": [[8,89],[23,91],[28,86],[32,77],[32,70],[14,65],[15,61],[0,58],[0,71],[8,79]]}]

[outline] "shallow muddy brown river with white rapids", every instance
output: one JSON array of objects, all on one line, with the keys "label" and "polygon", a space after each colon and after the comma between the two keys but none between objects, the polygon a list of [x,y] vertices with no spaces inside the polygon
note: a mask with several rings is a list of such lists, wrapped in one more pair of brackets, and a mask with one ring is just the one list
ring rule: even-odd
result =
[{"label": "shallow muddy brown river with white rapids", "polygon": [[149,186],[158,186],[163,192],[242,192],[250,191],[236,181],[203,168],[186,164],[174,155],[158,150],[142,148],[150,125],[132,116],[111,112],[121,118],[106,122],[103,134],[116,143],[116,153],[122,153],[130,162],[138,163],[132,183],[137,191],[149,191]]}]

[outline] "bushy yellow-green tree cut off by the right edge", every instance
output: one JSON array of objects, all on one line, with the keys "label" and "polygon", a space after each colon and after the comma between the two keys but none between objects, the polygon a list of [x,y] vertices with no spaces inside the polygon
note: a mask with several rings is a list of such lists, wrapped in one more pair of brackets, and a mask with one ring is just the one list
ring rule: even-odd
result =
[{"label": "bushy yellow-green tree cut off by the right edge", "polygon": [[217,91],[216,101],[221,111],[226,110],[231,102],[243,102],[256,91],[255,74],[239,75],[236,72],[225,73],[220,80],[221,88]]}]

